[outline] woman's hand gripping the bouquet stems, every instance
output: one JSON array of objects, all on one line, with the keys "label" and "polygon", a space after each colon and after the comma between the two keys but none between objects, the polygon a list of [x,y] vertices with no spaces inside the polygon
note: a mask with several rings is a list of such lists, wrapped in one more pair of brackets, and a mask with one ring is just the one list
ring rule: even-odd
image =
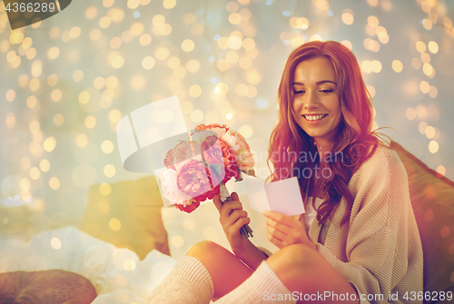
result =
[{"label": "woman's hand gripping the bouquet stems", "polygon": [[246,250],[248,240],[240,233],[242,226],[249,224],[248,213],[242,210],[242,202],[239,201],[238,194],[232,192],[232,201],[222,203],[219,195],[213,197],[212,201],[221,214],[222,230],[229,241],[233,252],[238,255]]}]

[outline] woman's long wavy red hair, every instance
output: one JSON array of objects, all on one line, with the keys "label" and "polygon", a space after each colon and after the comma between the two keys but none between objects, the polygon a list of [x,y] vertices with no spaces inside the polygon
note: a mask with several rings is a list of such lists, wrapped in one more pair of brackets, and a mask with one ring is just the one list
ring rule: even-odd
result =
[{"label": "woman's long wavy red hair", "polygon": [[[295,69],[302,61],[315,57],[330,60],[336,75],[337,90],[341,103],[342,119],[336,141],[331,147],[331,158],[322,162],[313,138],[304,132],[293,117],[293,78]],[[278,91],[279,122],[271,133],[268,165],[272,164],[271,181],[297,176],[301,195],[306,200],[309,191],[313,198],[327,199],[317,210],[317,220],[323,223],[331,218],[331,212],[344,197],[348,203],[342,224],[349,221],[353,205],[348,184],[360,164],[370,158],[380,144],[379,136],[372,131],[371,97],[362,80],[360,65],[354,54],[344,45],[334,41],[313,41],[295,49],[285,64]],[[303,158],[301,153],[310,157]],[[312,158],[317,155],[316,158]],[[328,154],[325,154],[328,155]],[[315,179],[301,176],[301,172],[314,172],[329,168],[330,176]],[[312,205],[315,208],[315,200]]]}]

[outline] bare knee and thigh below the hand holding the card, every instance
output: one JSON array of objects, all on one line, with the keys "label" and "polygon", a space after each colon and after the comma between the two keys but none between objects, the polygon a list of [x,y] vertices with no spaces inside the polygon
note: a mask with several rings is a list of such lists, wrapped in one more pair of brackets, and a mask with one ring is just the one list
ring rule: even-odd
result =
[{"label": "bare knee and thigh below the hand holding the card", "polygon": [[[359,303],[355,289],[344,279],[323,256],[310,247],[302,244],[287,246],[266,260],[282,283],[291,291],[304,294],[317,294],[317,291],[331,291],[338,295],[355,294],[357,300],[339,300],[330,303]],[[350,296],[349,296],[350,299]],[[303,301],[298,301],[302,303]],[[317,299],[311,304],[324,303]]]}]

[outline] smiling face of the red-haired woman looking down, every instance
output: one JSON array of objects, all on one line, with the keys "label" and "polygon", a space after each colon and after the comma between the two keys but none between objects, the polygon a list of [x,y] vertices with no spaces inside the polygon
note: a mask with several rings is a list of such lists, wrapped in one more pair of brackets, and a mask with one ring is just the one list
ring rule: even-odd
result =
[{"label": "smiling face of the red-haired woman looking down", "polygon": [[316,57],[296,66],[293,117],[318,146],[331,145],[342,120],[336,75],[331,61]]}]

